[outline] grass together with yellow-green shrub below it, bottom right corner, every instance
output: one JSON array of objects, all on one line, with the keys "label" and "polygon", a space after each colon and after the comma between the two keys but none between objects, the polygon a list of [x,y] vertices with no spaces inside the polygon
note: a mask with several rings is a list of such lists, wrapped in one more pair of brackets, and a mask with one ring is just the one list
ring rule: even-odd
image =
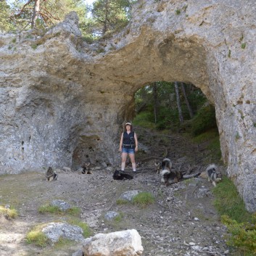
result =
[{"label": "grass together with yellow-green shrub below it, bottom right corner", "polygon": [[252,256],[256,253],[256,214],[250,214],[239,196],[234,183],[226,176],[213,189],[215,207],[221,221],[228,228],[227,244],[238,250],[238,255]]}]

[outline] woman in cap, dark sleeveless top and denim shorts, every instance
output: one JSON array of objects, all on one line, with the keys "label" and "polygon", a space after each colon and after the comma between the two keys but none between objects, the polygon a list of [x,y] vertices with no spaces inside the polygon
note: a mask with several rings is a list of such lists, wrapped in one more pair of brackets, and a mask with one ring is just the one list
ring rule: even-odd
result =
[{"label": "woman in cap, dark sleeveless top and denim shorts", "polygon": [[138,151],[138,139],[131,123],[125,123],[125,131],[121,135],[119,151],[122,152],[121,170],[125,170],[125,162],[129,154],[133,172],[136,172],[135,152]]}]

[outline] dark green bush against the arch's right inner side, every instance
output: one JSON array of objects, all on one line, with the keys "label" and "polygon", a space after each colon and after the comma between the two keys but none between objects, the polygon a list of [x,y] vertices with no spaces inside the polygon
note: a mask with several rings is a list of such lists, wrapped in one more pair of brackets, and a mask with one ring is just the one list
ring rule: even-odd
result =
[{"label": "dark green bush against the arch's right inner side", "polygon": [[197,115],[193,118],[191,123],[191,133],[194,136],[204,133],[211,128],[216,128],[215,108],[212,105],[207,104],[202,107]]}]

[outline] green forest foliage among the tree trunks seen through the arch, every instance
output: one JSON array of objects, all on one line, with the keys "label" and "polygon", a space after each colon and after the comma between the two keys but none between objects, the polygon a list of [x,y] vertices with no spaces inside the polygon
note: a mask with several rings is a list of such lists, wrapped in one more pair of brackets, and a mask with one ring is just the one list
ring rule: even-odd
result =
[{"label": "green forest foliage among the tree trunks seen through the arch", "polygon": [[[157,87],[157,95],[154,95],[154,86]],[[186,96],[189,101],[190,107],[194,113],[202,107],[207,99],[199,88],[195,88],[192,85],[184,84]],[[180,94],[181,110],[184,120],[189,120],[189,110],[186,105],[185,97]],[[138,120],[144,120],[146,122],[155,123],[154,107],[157,104],[157,118],[155,127],[159,130],[166,128],[176,131],[180,124],[178,118],[178,107],[176,103],[176,92],[173,83],[165,81],[157,81],[148,86],[144,86],[135,94],[136,113]],[[144,114],[142,114],[144,113]],[[146,114],[147,113],[147,114]],[[145,118],[146,116],[146,118]],[[140,121],[141,122],[141,121]],[[149,127],[149,123],[146,124]],[[144,126],[144,124],[143,124]],[[146,126],[144,126],[146,127]]]}]

